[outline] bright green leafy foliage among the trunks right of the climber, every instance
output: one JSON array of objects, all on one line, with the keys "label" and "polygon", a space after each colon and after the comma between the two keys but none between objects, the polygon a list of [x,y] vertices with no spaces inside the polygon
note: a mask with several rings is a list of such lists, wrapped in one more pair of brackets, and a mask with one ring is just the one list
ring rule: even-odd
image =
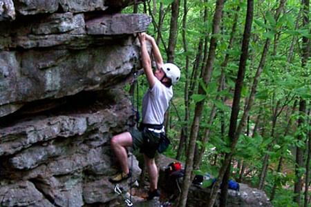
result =
[{"label": "bright green leafy foliage among the trunks right of the climber", "polygon": [[[169,9],[172,0],[157,1],[157,11],[154,14],[155,21],[158,22],[158,9],[160,2],[164,4],[164,10],[167,10],[162,26],[162,37],[166,46],[169,39],[169,23],[171,12]],[[205,154],[202,159],[202,165],[198,173],[210,173],[214,177],[218,175],[218,170],[223,159],[223,153],[231,152],[229,138],[227,133],[229,130],[229,120],[231,115],[231,104],[234,97],[234,88],[236,85],[236,76],[238,72],[239,60],[241,55],[241,42],[243,40],[243,30],[245,25],[245,14],[247,9],[247,1],[226,1],[223,10],[223,19],[220,26],[220,33],[211,35],[213,16],[216,1],[206,1],[202,3],[200,0],[187,1],[189,11],[187,13],[187,28],[186,39],[188,51],[185,52],[182,42],[182,3],[180,4],[180,15],[178,19],[178,37],[176,39],[175,62],[180,66],[182,77],[180,83],[174,86],[173,103],[177,108],[171,110],[169,137],[172,144],[165,152],[165,155],[175,157],[179,144],[181,128],[187,124],[188,130],[191,128],[191,121],[194,118],[194,108],[196,103],[205,101],[202,119],[200,121],[200,131],[198,132],[201,138],[204,135],[205,129],[210,129],[209,141],[203,143],[196,141],[199,148],[205,147]],[[150,2],[152,4],[152,2]],[[236,12],[236,6],[240,5],[241,10]],[[310,110],[311,86],[310,86],[310,61],[305,64],[305,68],[301,66],[301,43],[302,38],[311,38],[310,28],[302,28],[302,17],[299,17],[300,1],[288,0],[285,9],[280,14],[279,20],[274,19],[275,9],[279,6],[279,1],[260,1],[254,6],[254,20],[252,23],[252,35],[249,43],[249,57],[247,59],[247,70],[245,72],[245,80],[242,89],[242,99],[240,103],[240,112],[238,121],[241,120],[245,99],[249,96],[254,75],[261,61],[261,54],[266,39],[270,39],[270,48],[265,60],[265,66],[260,79],[258,79],[258,87],[256,88],[256,96],[252,110],[249,112],[249,135],[246,135],[246,129],[238,139],[234,158],[243,160],[247,169],[254,169],[256,173],[252,174],[250,181],[254,186],[258,184],[259,174],[261,172],[263,157],[270,155],[270,168],[277,166],[279,158],[283,156],[285,160],[284,168],[287,168],[291,173],[285,172],[272,173],[268,171],[265,190],[268,195],[274,182],[277,185],[276,197],[273,201],[274,206],[295,206],[292,202],[292,185],[294,183],[294,166],[295,157],[292,155],[292,149],[298,147],[305,148],[305,140],[310,126],[301,126],[297,128],[298,113],[291,115],[294,108],[294,101],[301,98],[307,101],[307,108]],[[207,8],[207,21],[203,21],[204,9]],[[129,9],[131,11],[132,9]],[[140,5],[140,12],[143,6]],[[228,49],[229,37],[234,21],[234,14],[238,13],[238,26],[234,34],[233,47]],[[297,17],[300,19],[297,20]],[[296,28],[298,21],[298,28]],[[156,37],[157,31],[153,26],[149,26],[150,34]],[[207,42],[211,37],[217,37],[216,59],[211,73],[211,80],[208,84],[202,81],[202,77],[197,77],[196,88],[193,94],[189,97],[189,122],[185,123],[185,86],[186,81],[190,80],[190,75],[193,72],[194,63],[198,50],[200,38],[207,38]],[[166,59],[163,43],[160,41],[160,50],[163,59]],[[207,45],[209,49],[209,43]],[[292,57],[290,58],[290,52]],[[202,55],[202,54],[201,54]],[[208,54],[207,54],[208,55]],[[225,55],[229,55],[229,61],[225,67],[222,66]],[[185,78],[185,58],[189,57],[189,79]],[[205,62],[206,63],[206,62]],[[200,74],[201,66],[198,67]],[[222,70],[225,72],[225,86],[218,91],[219,78]],[[147,83],[142,83],[143,89],[147,90]],[[203,94],[199,94],[198,87],[203,90]],[[126,86],[129,88],[129,86]],[[218,99],[216,99],[218,97]],[[140,93],[140,99],[142,92]],[[277,102],[279,101],[279,106]],[[272,116],[277,108],[280,112],[274,128],[272,137]],[[216,117],[212,124],[209,124],[211,108],[216,106]],[[297,106],[296,106],[296,109]],[[178,115],[180,119],[178,118]],[[256,119],[260,115],[258,121],[257,132],[252,135],[255,127]],[[306,118],[305,118],[306,119]],[[289,124],[290,121],[290,124]],[[188,131],[189,132],[189,131]],[[245,132],[245,133],[244,133]],[[302,140],[298,140],[297,136],[301,135]],[[188,137],[189,138],[189,137]],[[215,155],[218,155],[215,166],[211,166],[214,162]],[[184,155],[185,157],[185,155]],[[301,173],[304,169],[301,168]],[[209,186],[209,182],[204,186]]]}]

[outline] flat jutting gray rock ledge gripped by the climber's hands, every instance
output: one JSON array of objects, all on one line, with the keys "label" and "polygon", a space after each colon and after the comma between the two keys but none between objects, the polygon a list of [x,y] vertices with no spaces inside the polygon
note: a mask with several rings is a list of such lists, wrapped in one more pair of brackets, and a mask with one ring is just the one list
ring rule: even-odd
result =
[{"label": "flat jutting gray rock ledge gripped by the climber's hands", "polygon": [[85,14],[55,13],[27,21],[0,22],[0,50],[31,48],[84,49],[102,46],[144,32],[151,23],[147,14],[98,14],[85,20]]}]

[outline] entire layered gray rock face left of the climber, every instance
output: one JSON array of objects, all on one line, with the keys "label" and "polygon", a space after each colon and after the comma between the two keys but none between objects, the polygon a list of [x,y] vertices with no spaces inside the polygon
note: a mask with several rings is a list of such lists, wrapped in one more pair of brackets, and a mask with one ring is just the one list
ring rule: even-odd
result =
[{"label": "entire layered gray rock face left of the climber", "polygon": [[0,1],[0,206],[117,206],[110,139],[134,124],[124,84],[151,22],[115,13],[131,4]]}]

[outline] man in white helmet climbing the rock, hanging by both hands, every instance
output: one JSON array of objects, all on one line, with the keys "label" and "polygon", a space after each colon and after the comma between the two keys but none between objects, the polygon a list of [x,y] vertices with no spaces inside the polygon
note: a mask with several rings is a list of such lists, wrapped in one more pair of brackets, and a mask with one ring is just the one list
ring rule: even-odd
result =
[{"label": "man in white helmet climbing the rock, hanging by both hands", "polygon": [[[162,55],[156,41],[144,32],[138,34],[141,46],[142,67],[149,83],[149,90],[142,100],[142,123],[141,130],[133,129],[123,132],[111,139],[111,148],[120,162],[122,172],[109,179],[117,183],[131,177],[131,171],[127,164],[126,147],[140,149],[144,155],[144,163],[149,173],[150,188],[147,199],[159,197],[158,169],[155,163],[156,150],[158,148],[160,133],[164,132],[164,113],[169,107],[169,101],[173,97],[172,85],[180,79],[180,70],[173,63],[163,63]],[[151,43],[153,56],[156,60],[157,69],[153,73],[151,58],[147,50],[147,41]]]}]

